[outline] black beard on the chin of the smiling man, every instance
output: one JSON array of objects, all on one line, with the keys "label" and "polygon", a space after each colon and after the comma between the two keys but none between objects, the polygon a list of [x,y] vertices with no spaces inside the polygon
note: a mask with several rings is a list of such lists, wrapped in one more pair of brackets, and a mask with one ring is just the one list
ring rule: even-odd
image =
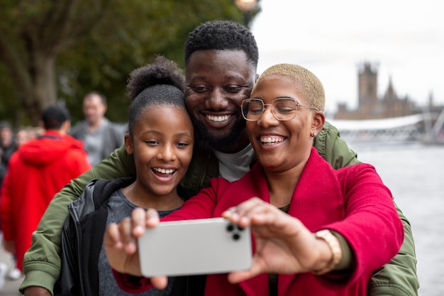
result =
[{"label": "black beard on the chin of the smiling man", "polygon": [[238,146],[238,140],[243,136],[245,130],[245,121],[237,121],[229,133],[221,136],[213,135],[209,132],[206,124],[192,119],[194,131],[196,132],[197,145],[204,150],[218,150],[224,152],[233,150]]}]

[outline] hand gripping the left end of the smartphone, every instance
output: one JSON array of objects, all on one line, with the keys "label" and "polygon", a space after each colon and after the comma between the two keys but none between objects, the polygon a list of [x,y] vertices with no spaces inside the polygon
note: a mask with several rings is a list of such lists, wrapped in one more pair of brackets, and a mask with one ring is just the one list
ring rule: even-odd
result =
[{"label": "hand gripping the left end of the smartphone", "polygon": [[[159,224],[159,214],[155,209],[137,208],[131,218],[125,218],[119,224],[109,224],[104,235],[104,248],[111,267],[119,273],[142,276],[137,239],[145,229]],[[151,278],[151,283],[158,289],[167,286],[167,277]]]}]

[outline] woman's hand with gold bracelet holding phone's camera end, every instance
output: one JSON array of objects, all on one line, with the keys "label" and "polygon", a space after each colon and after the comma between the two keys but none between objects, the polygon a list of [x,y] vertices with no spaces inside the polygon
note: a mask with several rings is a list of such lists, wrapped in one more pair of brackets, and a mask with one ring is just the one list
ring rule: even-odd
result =
[{"label": "woman's hand with gold bracelet holding phone's camera end", "polygon": [[250,226],[256,250],[250,270],[228,275],[231,283],[252,278],[260,273],[306,273],[328,265],[332,253],[327,243],[304,224],[277,207],[252,198],[222,215],[240,226]]}]

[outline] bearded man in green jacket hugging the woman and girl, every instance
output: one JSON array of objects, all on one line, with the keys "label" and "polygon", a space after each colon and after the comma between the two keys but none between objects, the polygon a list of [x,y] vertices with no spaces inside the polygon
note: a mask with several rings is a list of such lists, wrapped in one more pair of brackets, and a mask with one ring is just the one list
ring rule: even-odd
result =
[{"label": "bearded man in green jacket hugging the woman and girl", "polygon": [[[238,23],[209,21],[189,33],[185,45],[185,102],[197,145],[181,185],[194,193],[207,187],[211,177],[237,180],[255,161],[240,103],[250,97],[258,58],[254,36]],[[321,133],[313,136],[313,145],[333,168],[360,163],[331,124],[326,123]],[[33,246],[23,263],[26,278],[21,291],[26,296],[50,295],[60,274],[60,233],[67,204],[82,194],[91,179],[134,175],[133,157],[125,148],[119,148],[55,196],[33,234]],[[406,239],[400,253],[372,279],[369,295],[417,294],[414,241],[409,222],[400,211],[399,214]]]}]

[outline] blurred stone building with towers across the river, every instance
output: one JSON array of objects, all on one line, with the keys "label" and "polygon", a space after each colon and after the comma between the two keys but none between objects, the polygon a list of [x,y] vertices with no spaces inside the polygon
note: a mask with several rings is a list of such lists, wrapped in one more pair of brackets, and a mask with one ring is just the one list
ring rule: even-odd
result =
[{"label": "blurred stone building with towers across the river", "polygon": [[349,110],[343,103],[338,104],[334,119],[386,119],[417,113],[409,97],[398,97],[392,78],[383,97],[378,97],[377,63],[362,62],[357,65],[357,109]]}]

